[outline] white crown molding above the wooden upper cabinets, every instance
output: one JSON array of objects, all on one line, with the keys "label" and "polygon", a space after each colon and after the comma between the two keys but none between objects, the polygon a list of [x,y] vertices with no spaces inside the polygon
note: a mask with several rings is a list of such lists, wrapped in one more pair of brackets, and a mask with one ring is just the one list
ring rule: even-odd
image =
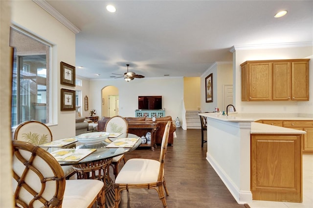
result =
[{"label": "white crown molding above the wooden upper cabinets", "polygon": [[312,45],[313,45],[313,42],[285,42],[285,43],[272,43],[272,44],[234,45],[229,49],[229,51],[233,53],[238,50],[294,48],[294,47],[308,47]]}]

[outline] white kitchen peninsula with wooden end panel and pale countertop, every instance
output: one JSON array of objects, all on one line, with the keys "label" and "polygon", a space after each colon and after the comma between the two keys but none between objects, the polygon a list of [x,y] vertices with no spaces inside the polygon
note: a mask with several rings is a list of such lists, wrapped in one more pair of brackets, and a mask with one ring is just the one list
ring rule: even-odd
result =
[{"label": "white kitchen peninsula with wooden end panel and pale countertop", "polygon": [[263,118],[247,114],[199,115],[207,118],[206,159],[239,204],[302,202],[305,131],[256,123]]}]

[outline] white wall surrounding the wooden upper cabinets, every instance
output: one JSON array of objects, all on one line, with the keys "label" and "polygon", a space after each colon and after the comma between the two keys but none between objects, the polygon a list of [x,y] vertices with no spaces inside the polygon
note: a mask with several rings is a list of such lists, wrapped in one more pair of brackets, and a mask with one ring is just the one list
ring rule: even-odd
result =
[{"label": "white wall surrounding the wooden upper cabinets", "polygon": [[[311,59],[309,63],[310,101],[272,101],[242,102],[241,101],[241,68],[240,64],[251,60],[276,59]],[[269,49],[236,49],[233,53],[234,95],[235,106],[241,113],[295,113],[300,116],[313,117],[313,47],[289,47]]]}]

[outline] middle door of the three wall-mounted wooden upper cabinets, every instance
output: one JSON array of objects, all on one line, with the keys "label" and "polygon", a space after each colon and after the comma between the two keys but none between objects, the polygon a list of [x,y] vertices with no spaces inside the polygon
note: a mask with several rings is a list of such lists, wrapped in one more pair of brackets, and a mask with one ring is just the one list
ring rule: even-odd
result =
[{"label": "middle door of the three wall-mounted wooden upper cabinets", "polygon": [[291,63],[273,63],[273,100],[291,100]]}]

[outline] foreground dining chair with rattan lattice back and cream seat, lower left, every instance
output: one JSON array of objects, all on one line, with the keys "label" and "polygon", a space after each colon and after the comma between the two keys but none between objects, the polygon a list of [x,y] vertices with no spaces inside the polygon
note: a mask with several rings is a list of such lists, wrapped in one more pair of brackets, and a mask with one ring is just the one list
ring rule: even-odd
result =
[{"label": "foreground dining chair with rattan lattice back and cream seat, lower left", "polygon": [[12,140],[12,150],[15,207],[105,207],[101,181],[65,180],[58,161],[40,146]]}]

